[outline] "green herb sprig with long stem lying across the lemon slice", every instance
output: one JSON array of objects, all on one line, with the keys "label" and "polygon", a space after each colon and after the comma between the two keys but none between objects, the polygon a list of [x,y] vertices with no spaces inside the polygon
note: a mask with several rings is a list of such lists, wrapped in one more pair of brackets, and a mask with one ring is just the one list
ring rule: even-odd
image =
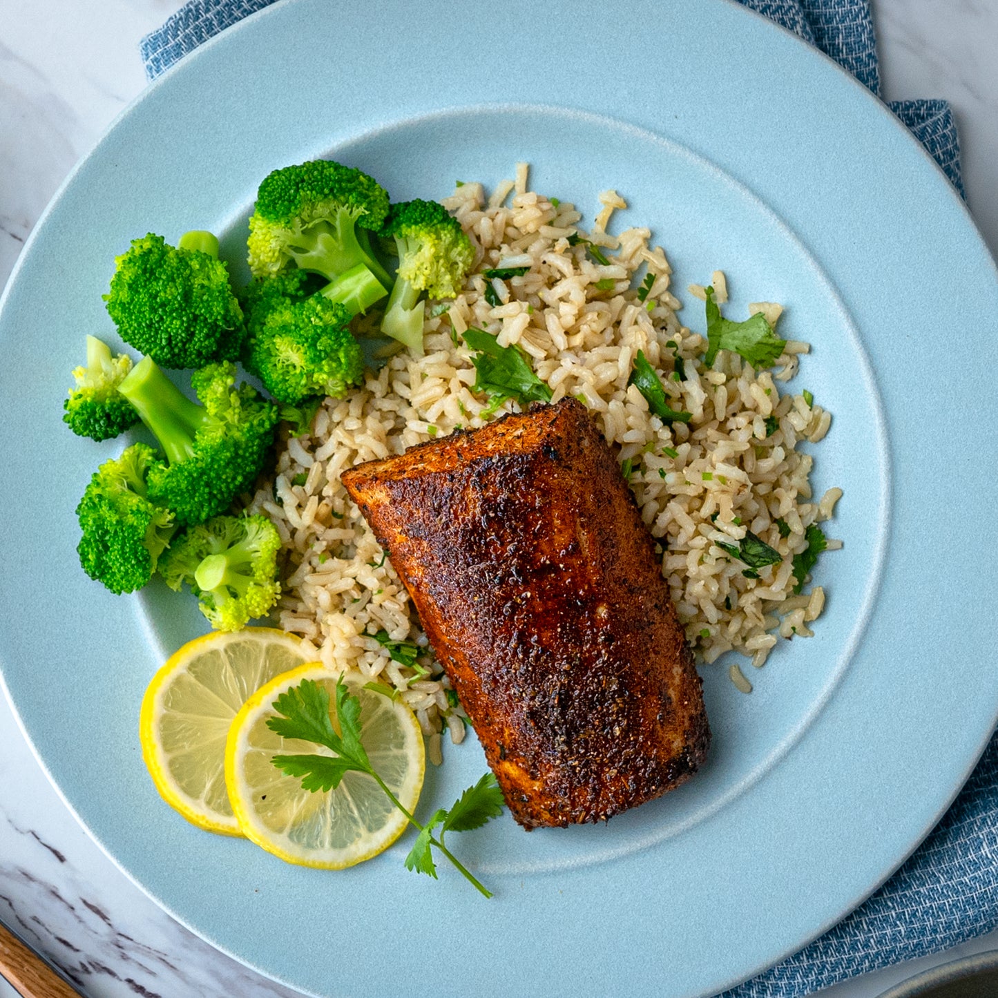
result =
[{"label": "green herb sprig with long stem lying across the lemon slice", "polygon": [[[502,813],[503,796],[495,776],[487,772],[474,786],[469,786],[449,810],[438,809],[426,824],[421,824],[402,806],[371,764],[367,750],[360,742],[360,701],[346,689],[342,677],[336,681],[335,692],[338,734],[329,714],[329,694],[325,687],[312,680],[302,680],[282,693],[272,705],[278,717],[266,722],[267,728],[283,739],[312,742],[333,754],[274,755],[270,761],[288,776],[300,779],[301,786],[312,793],[335,789],[347,772],[366,773],[419,831],[405,857],[407,869],[427,873],[435,879],[433,849],[437,848],[480,893],[491,897],[491,892],[444,844],[444,833],[481,827]],[[435,829],[439,829],[437,834],[434,834]]]}]

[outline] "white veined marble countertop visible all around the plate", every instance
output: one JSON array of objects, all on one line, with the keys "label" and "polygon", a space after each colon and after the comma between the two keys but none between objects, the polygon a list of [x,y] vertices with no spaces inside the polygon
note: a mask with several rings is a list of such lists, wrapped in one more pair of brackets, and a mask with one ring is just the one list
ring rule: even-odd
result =
[{"label": "white veined marble countertop visible all around the plate", "polygon": [[[967,201],[998,252],[998,4],[873,0],[884,96],[957,114]],[[146,80],[140,38],[180,0],[0,0],[0,284],[45,205]],[[0,697],[0,922],[85,995],[291,995],[161,911],[76,823]],[[872,998],[917,971],[998,947],[998,932],[836,985]],[[0,979],[0,998],[14,991]]]}]

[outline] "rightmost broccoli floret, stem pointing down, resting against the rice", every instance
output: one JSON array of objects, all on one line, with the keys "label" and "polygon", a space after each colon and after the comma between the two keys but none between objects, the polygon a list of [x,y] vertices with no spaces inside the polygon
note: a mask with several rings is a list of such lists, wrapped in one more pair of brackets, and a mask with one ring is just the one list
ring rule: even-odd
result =
[{"label": "rightmost broccoli floret, stem pointing down, resting against the rice", "polygon": [[423,352],[425,291],[433,298],[454,297],[475,258],[471,241],[447,209],[435,201],[405,201],[392,205],[382,236],[398,249],[395,278],[381,331]]}]

